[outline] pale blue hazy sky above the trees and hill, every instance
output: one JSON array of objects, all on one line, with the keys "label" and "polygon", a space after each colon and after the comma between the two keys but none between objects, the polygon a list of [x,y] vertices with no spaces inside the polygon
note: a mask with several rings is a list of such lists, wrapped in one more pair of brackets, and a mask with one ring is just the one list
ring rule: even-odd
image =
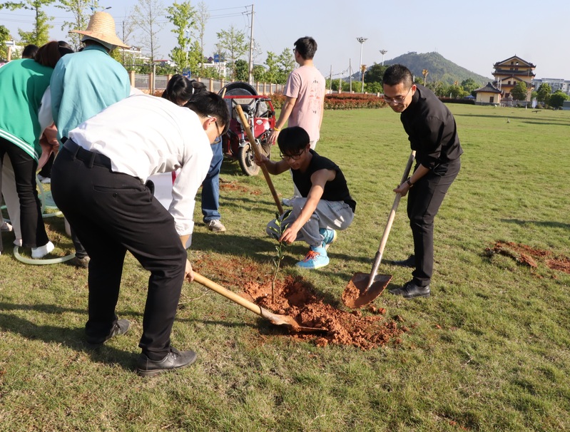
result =
[{"label": "pale blue hazy sky above the trees and hill", "polygon": [[[161,0],[170,6],[174,0]],[[178,0],[180,2],[181,0]],[[99,0],[109,7],[118,34],[121,22],[138,0]],[[348,75],[349,66],[356,72],[362,64],[382,63],[410,51],[437,52],[463,68],[492,78],[493,65],[514,55],[534,63],[536,78],[570,79],[570,56],[566,46],[568,32],[564,25],[566,0],[554,0],[542,7],[531,0],[514,3],[477,0],[204,0],[210,10],[206,24],[205,56],[213,56],[216,32],[235,29],[250,35],[252,9],[253,37],[263,51],[255,63],[265,61],[265,52],[281,53],[293,48],[302,36],[312,36],[318,44],[315,66],[327,78]],[[195,6],[198,0],[192,0]],[[404,5],[404,6],[402,6]],[[51,38],[66,39],[63,21],[71,16],[51,6],[54,17]],[[33,11],[0,10],[0,24],[18,37],[18,29],[33,29]],[[158,50],[161,58],[175,46],[173,26],[166,18]],[[366,38],[364,43],[357,38]],[[127,41],[138,45],[136,38]],[[246,56],[248,56],[246,54]],[[248,58],[244,58],[248,60]]]}]

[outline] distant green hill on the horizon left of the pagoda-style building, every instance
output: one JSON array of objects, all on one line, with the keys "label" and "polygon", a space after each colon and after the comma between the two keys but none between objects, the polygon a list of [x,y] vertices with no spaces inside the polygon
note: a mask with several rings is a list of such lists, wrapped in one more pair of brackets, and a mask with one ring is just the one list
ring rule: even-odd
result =
[{"label": "distant green hill on the horizon left of the pagoda-style building", "polygon": [[[391,60],[387,60],[384,62],[384,65],[389,66],[395,63],[403,64],[412,71],[414,76],[420,78],[423,78],[422,71],[427,69],[427,82],[442,81],[442,83],[445,83],[448,86],[453,84],[455,81],[459,81],[459,83],[461,83],[467,78],[473,78],[473,80],[480,83],[481,86],[484,86],[489,81],[493,81],[493,78],[479,75],[468,71],[466,68],[458,66],[452,61],[447,60],[447,58],[444,58],[444,56],[439,53],[418,54],[416,52],[410,52],[402,54],[402,56],[392,58]],[[355,76],[357,77],[358,74],[355,74]]]}]

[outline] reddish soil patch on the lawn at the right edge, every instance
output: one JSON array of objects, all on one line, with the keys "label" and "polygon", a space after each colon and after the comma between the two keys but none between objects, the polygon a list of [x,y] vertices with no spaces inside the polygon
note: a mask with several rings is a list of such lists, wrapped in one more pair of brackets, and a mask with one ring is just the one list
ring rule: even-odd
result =
[{"label": "reddish soil patch on the lawn at the right edge", "polygon": [[527,245],[521,245],[513,242],[497,241],[492,247],[487,247],[487,254],[502,254],[511,257],[519,264],[528,267],[538,267],[537,260],[544,262],[549,269],[558,270],[559,272],[570,274],[570,258],[564,256],[553,257],[553,253],[548,250],[533,249]]}]

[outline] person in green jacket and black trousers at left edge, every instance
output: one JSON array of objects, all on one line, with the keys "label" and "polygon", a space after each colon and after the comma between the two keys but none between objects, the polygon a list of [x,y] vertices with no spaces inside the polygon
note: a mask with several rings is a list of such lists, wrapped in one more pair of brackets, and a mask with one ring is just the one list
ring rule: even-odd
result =
[{"label": "person in green jacket and black trousers at left edge", "polygon": [[[54,250],[41,217],[36,170],[41,155],[39,138],[53,123],[46,89],[61,56],[58,42],[51,41],[39,48],[34,59],[14,60],[0,68],[0,160],[7,155],[14,168],[22,245],[31,247],[33,258]],[[1,169],[0,163],[0,175]]]}]

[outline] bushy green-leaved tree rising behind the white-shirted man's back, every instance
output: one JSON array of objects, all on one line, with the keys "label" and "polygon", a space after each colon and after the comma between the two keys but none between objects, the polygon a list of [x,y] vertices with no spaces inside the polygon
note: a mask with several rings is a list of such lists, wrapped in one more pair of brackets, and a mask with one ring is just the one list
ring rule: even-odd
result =
[{"label": "bushy green-leaved tree rising behind the white-shirted man's back", "polygon": [[[171,58],[180,71],[188,68],[188,51],[190,51],[190,31],[195,29],[195,9],[190,5],[190,1],[182,3],[174,2],[172,6],[166,8],[168,15],[166,18],[171,21],[174,29],[171,31],[176,35],[178,46],[171,51]],[[194,71],[196,71],[194,65]],[[190,68],[191,70],[191,68]]]}]

